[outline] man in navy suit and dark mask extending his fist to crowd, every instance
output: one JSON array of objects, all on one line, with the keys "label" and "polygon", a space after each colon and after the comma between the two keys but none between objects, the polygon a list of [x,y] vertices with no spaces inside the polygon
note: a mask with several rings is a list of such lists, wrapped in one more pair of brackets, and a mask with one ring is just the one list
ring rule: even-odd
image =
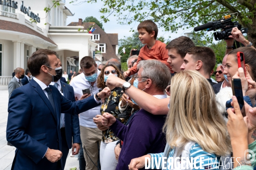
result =
[{"label": "man in navy suit and dark mask extending his fist to crowd", "polygon": [[110,95],[110,89],[80,101],[68,100],[49,86],[59,79],[62,67],[56,52],[48,49],[34,52],[28,68],[34,78],[13,91],[8,105],[6,139],[17,148],[12,169],[63,170],[61,113],[74,115],[97,107],[100,98]]}]

